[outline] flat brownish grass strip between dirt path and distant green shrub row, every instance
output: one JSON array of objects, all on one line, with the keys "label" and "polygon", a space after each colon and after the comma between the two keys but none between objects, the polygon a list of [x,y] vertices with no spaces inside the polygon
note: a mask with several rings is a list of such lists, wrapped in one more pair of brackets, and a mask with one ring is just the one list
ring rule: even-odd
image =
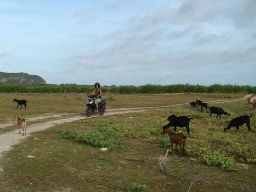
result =
[{"label": "flat brownish grass strip between dirt path and distant green shrub row", "polygon": [[[144,106],[164,106],[177,103],[188,103],[201,99],[212,101],[219,99],[241,98],[245,94],[104,94],[108,101],[107,110],[116,108],[136,108]],[[26,99],[27,110],[16,109],[17,103],[13,99]],[[86,94],[23,94],[0,93],[0,124],[13,121],[13,116],[36,117],[53,114],[84,114],[87,101]],[[24,108],[24,106],[23,106]]]}]

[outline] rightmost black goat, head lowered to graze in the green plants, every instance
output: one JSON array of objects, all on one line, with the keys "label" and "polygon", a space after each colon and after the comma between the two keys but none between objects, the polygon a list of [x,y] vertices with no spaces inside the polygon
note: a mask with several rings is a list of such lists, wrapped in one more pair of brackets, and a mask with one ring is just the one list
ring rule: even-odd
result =
[{"label": "rightmost black goat, head lowered to graze in the green plants", "polygon": [[251,117],[252,117],[252,115],[251,115],[251,116],[242,115],[242,116],[240,116],[240,117],[233,118],[233,119],[230,121],[230,123],[228,124],[228,126],[227,126],[226,128],[224,128],[224,132],[228,132],[228,130],[229,130],[232,126],[234,126],[234,127],[237,127],[236,133],[237,133],[237,131],[239,131],[239,133],[241,133],[240,130],[239,130],[239,125],[243,125],[243,124],[246,124],[246,125],[247,125],[247,127],[248,127],[248,130],[247,130],[247,131],[250,132],[250,131],[251,131],[251,127],[250,127],[250,120],[251,120]]}]

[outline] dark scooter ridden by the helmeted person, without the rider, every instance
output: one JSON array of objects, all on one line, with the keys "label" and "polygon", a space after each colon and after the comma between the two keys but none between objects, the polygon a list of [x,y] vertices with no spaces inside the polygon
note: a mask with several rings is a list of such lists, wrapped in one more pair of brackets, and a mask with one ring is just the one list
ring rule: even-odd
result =
[{"label": "dark scooter ridden by the helmeted person, without the rider", "polygon": [[[90,95],[88,94],[88,100],[86,104],[86,116],[90,117],[92,114],[95,113],[96,111],[96,105],[95,105],[95,95]],[[101,101],[98,103],[98,110],[99,110],[99,115],[104,115],[105,110],[106,110],[106,101],[105,99],[101,99]]]}]

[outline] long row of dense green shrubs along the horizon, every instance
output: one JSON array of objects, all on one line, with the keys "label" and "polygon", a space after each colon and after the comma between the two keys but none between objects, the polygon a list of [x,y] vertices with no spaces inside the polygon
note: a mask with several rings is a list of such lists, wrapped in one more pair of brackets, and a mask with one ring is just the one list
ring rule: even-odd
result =
[{"label": "long row of dense green shrubs along the horizon", "polygon": [[[4,93],[90,93],[94,86],[77,84],[0,84],[0,92]],[[237,86],[231,84],[213,84],[200,86],[191,84],[170,84],[160,86],[146,84],[144,86],[103,86],[103,92],[119,94],[151,94],[151,93],[256,93],[255,86]]]}]

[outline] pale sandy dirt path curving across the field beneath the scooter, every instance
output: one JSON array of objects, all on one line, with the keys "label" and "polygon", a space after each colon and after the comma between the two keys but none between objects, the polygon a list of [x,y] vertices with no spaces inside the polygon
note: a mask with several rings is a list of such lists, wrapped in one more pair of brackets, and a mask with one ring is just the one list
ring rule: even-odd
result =
[{"label": "pale sandy dirt path curving across the field beneath the scooter", "polygon": [[[244,98],[240,99],[234,99],[234,100],[217,100],[217,101],[211,101],[210,103],[222,103],[222,102],[236,102],[236,101],[242,101],[246,100],[246,98],[250,97],[252,95],[247,95]],[[154,107],[145,107],[145,108],[121,108],[121,109],[111,109],[106,111],[104,116],[108,115],[117,115],[117,114],[125,114],[125,113],[134,113],[134,112],[142,112],[150,109],[162,109],[162,108],[167,108],[170,106],[178,106],[178,105],[186,105],[188,103],[181,103],[181,104],[172,104],[172,105],[167,105],[167,106],[154,106]],[[67,114],[63,114],[67,115]],[[43,117],[35,117],[35,118],[29,118],[30,120],[38,120],[38,119],[44,119],[44,118],[49,118],[49,117],[59,117],[63,115],[54,115],[54,116],[43,116]],[[70,115],[70,114],[68,114]],[[99,115],[93,115],[91,117],[86,117],[86,116],[75,116],[72,118],[66,118],[66,119],[58,119],[58,120],[51,120],[47,122],[41,122],[41,123],[34,123],[31,124],[30,126],[27,126],[27,135],[19,135],[18,131],[10,131],[5,134],[0,135],[0,158],[5,154],[5,152],[11,150],[12,146],[19,143],[21,140],[26,139],[27,137],[31,136],[32,133],[46,130],[52,126],[61,124],[61,123],[68,123],[72,121],[77,121],[81,119],[86,119],[86,118],[94,118],[94,117],[102,117]],[[1,124],[2,127],[5,126],[10,126],[10,124]],[[13,123],[11,123],[13,125]],[[1,168],[1,167],[0,167]],[[0,169],[1,170],[1,169]]]}]

